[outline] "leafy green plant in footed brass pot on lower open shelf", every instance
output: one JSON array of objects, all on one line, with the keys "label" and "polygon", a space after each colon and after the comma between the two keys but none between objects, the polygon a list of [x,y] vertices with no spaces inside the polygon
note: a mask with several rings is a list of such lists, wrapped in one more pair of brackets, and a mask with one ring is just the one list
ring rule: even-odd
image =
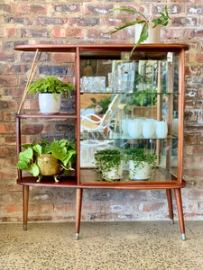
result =
[{"label": "leafy green plant in footed brass pot on lower open shelf", "polygon": [[33,141],[32,144],[22,145],[25,150],[19,154],[17,166],[33,176],[39,176],[37,182],[41,182],[42,176],[46,175],[53,175],[55,182],[59,182],[57,176],[63,170],[73,170],[77,153],[74,142],[60,139],[50,143],[42,139],[38,144]]}]

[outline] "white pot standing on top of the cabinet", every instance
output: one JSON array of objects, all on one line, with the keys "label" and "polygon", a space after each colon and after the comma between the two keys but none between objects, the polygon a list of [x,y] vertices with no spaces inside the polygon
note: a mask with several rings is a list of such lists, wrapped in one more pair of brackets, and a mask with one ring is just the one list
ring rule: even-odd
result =
[{"label": "white pot standing on top of the cabinet", "polygon": [[[160,43],[160,31],[161,27],[158,25],[155,28],[152,28],[153,23],[149,23],[149,37],[147,40],[144,40],[142,44],[146,43]],[[143,30],[143,24],[137,23],[135,24],[135,37],[134,42],[137,43],[137,41],[140,39],[141,31]]]}]

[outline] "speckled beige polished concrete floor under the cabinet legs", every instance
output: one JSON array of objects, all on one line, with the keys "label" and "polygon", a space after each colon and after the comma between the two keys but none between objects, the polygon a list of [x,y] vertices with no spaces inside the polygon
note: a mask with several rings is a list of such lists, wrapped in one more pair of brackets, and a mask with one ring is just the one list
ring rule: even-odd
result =
[{"label": "speckled beige polished concrete floor under the cabinet legs", "polygon": [[203,221],[0,224],[1,270],[203,269]]}]

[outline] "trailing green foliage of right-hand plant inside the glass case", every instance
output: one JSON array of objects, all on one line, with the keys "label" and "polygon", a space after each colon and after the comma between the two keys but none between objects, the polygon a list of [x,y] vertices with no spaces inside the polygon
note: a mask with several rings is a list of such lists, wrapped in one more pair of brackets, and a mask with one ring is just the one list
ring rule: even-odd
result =
[{"label": "trailing green foliage of right-hand plant inside the glass case", "polygon": [[152,176],[156,169],[156,158],[157,155],[155,153],[147,153],[147,149],[145,148],[127,148],[124,150],[125,162],[132,160],[134,162],[134,170],[136,170],[136,168],[141,169],[143,162],[148,163],[152,168]]}]

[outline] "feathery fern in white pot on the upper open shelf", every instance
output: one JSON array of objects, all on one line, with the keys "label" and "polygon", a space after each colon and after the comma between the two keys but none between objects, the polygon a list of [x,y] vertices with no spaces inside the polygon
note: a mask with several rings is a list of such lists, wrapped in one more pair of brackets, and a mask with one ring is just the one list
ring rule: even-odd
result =
[{"label": "feathery fern in white pot on the upper open shelf", "polygon": [[57,76],[47,76],[36,79],[28,88],[28,93],[39,93],[40,112],[54,114],[60,112],[61,94],[68,98],[75,90],[75,86],[69,82],[62,82]]}]

